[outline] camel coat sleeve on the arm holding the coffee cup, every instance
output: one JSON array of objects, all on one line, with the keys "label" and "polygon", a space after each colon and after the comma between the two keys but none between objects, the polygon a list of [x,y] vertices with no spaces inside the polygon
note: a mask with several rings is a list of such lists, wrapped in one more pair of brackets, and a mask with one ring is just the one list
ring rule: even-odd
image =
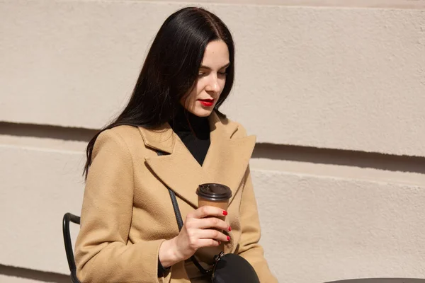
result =
[{"label": "camel coat sleeve on the arm holding the coffee cup", "polygon": [[130,243],[133,166],[127,144],[113,129],[94,146],[76,243],[77,277],[84,283],[163,282],[157,277],[164,240]]}]

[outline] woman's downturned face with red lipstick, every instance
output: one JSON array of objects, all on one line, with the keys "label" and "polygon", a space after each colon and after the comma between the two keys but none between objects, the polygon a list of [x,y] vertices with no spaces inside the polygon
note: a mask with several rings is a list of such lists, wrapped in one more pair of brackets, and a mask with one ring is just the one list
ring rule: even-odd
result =
[{"label": "woman's downturned face with red lipstick", "polygon": [[229,50],[222,40],[212,41],[205,48],[198,80],[191,93],[181,104],[199,117],[207,117],[214,109],[226,83],[226,69],[229,66]]}]

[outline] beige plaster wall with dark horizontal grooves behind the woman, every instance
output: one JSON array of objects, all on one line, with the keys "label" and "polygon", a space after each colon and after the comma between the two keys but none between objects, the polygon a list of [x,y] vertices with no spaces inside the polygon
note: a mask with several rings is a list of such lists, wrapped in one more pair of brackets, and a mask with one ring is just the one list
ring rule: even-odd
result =
[{"label": "beige plaster wall with dark horizontal grooves behind the woman", "polygon": [[[280,282],[425,278],[425,1],[205,2],[237,44],[224,109],[258,136]],[[81,208],[86,141],[186,4],[0,0],[1,283],[69,282],[61,220]]]}]

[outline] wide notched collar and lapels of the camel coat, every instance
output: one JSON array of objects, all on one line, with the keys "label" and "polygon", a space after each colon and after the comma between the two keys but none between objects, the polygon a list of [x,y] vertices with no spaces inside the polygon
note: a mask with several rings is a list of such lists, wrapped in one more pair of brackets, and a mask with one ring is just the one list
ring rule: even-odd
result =
[{"label": "wide notched collar and lapels of the camel coat", "polygon": [[[147,166],[183,200],[198,207],[196,188],[202,183],[221,183],[239,188],[255,146],[255,137],[233,137],[238,124],[216,112],[209,117],[210,148],[200,166],[169,124],[159,129],[140,127],[145,146],[169,155],[145,158]],[[231,199],[232,201],[232,199]]]}]

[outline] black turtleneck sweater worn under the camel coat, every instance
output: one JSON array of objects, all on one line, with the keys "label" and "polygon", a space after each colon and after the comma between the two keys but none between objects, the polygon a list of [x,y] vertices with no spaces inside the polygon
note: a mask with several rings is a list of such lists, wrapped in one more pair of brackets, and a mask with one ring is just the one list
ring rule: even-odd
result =
[{"label": "black turtleneck sweater worn under the camel coat", "polygon": [[[179,136],[183,144],[193,157],[202,166],[207,151],[210,148],[210,124],[208,117],[198,117],[188,112],[183,107],[179,108],[174,120],[169,124]],[[158,277],[163,277],[169,271],[164,268],[158,259]]]}]

